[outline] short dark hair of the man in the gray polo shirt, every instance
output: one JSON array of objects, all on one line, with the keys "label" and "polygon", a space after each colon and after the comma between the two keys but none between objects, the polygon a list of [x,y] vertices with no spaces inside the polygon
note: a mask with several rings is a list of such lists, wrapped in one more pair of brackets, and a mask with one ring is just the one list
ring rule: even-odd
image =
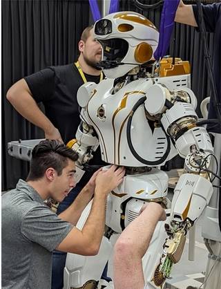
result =
[{"label": "short dark hair of the man in the gray polo shirt", "polygon": [[78,155],[58,140],[41,140],[32,150],[27,181],[42,178],[49,167],[55,169],[60,176],[64,167],[68,165],[68,158],[76,161]]}]

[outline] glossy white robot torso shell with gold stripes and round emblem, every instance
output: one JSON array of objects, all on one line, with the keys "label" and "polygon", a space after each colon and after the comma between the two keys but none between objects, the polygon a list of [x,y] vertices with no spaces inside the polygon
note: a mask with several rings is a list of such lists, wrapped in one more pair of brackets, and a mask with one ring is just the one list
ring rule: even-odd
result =
[{"label": "glossy white robot torso shell with gold stripes and round emblem", "polygon": [[[93,125],[102,150],[102,158],[108,163],[133,167],[145,166],[135,158],[128,145],[128,119],[133,107],[145,90],[132,85],[112,94],[111,89],[97,86],[96,93],[88,102],[88,118]],[[143,158],[153,159],[153,142],[155,137],[146,119],[144,105],[133,114],[131,122],[131,141],[137,153]],[[155,158],[155,157],[154,157]]]}]

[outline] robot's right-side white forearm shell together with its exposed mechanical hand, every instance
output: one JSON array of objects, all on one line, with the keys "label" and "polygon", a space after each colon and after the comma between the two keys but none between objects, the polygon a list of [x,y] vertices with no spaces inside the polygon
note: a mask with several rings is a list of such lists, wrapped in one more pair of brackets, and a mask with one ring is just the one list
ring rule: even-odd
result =
[{"label": "robot's right-side white forearm shell together with its exposed mechanical hand", "polygon": [[178,180],[174,189],[170,222],[165,224],[169,237],[164,243],[164,254],[153,276],[158,286],[169,278],[173,263],[180,261],[186,233],[202,214],[212,193],[211,182],[198,174],[183,174]]}]

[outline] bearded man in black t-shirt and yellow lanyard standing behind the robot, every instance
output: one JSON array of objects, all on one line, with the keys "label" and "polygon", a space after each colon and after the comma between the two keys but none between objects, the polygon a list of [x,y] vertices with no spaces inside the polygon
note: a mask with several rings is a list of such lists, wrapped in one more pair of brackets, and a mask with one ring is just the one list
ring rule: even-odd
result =
[{"label": "bearded man in black t-shirt and yellow lanyard standing behind the robot", "polygon": [[[99,83],[103,74],[97,68],[102,58],[101,45],[93,38],[93,26],[84,29],[79,41],[79,57],[74,64],[51,66],[24,77],[15,83],[6,95],[12,106],[24,118],[44,130],[49,140],[65,144],[75,138],[80,123],[77,90],[85,82]],[[42,102],[44,114],[37,103]],[[90,165],[102,165],[100,151],[94,153]],[[88,183],[92,174],[86,172],[77,186],[59,204],[61,214]],[[63,271],[66,253],[55,251],[52,263],[52,289],[63,288]]]}]

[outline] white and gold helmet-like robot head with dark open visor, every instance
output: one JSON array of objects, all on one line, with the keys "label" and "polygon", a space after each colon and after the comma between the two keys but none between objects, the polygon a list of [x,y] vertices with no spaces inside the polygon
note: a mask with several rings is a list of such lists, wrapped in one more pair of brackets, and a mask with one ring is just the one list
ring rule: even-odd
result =
[{"label": "white and gold helmet-like robot head with dark open visor", "polygon": [[157,28],[136,12],[116,12],[98,20],[95,39],[102,44],[102,62],[108,78],[125,75],[139,64],[148,62],[157,48]]}]

